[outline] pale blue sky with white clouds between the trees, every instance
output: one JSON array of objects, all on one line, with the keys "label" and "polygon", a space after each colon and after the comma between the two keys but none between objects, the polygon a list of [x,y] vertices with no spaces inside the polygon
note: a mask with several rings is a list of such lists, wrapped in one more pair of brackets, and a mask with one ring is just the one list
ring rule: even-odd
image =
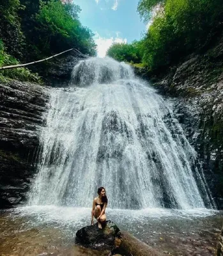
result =
[{"label": "pale blue sky with white clouds between the trees", "polygon": [[80,20],[95,33],[98,56],[113,42],[139,40],[146,25],[139,18],[139,0],[73,0],[81,6]]}]

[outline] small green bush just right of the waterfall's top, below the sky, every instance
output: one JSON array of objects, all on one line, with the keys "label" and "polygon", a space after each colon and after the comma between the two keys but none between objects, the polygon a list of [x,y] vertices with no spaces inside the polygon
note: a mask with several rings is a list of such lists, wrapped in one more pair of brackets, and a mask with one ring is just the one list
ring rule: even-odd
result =
[{"label": "small green bush just right of the waterfall's top, below the sky", "polygon": [[133,42],[132,44],[113,44],[107,51],[107,56],[118,61],[129,63],[141,63],[142,61],[142,44]]}]

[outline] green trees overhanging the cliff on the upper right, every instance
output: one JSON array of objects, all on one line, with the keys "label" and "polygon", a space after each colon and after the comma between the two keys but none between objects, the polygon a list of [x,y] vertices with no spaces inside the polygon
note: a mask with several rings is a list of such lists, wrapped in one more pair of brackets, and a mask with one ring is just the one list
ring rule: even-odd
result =
[{"label": "green trees overhanging the cliff on the upper right", "polygon": [[[194,51],[205,51],[223,29],[222,0],[141,0],[138,12],[144,20],[153,18],[139,42],[142,63],[151,71],[177,63]],[[121,46],[112,45],[107,54],[123,60],[120,56],[125,56],[127,47]]]}]

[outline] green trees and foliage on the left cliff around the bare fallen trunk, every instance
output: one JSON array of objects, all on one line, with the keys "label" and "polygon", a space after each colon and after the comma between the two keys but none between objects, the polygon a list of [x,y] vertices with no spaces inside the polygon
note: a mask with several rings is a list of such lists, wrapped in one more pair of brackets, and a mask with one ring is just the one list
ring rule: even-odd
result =
[{"label": "green trees and foliage on the left cliff around the bare fallen trunk", "polygon": [[[81,8],[69,0],[1,1],[0,67],[40,60],[73,47],[95,56],[93,33],[82,26],[79,12]],[[8,70],[0,76],[20,79],[21,72],[27,75],[29,71]]]}]

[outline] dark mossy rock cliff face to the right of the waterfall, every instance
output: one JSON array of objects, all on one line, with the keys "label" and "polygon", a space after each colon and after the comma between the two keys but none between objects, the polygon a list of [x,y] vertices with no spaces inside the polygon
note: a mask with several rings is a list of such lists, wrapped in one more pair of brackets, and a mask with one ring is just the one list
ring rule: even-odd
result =
[{"label": "dark mossy rock cliff face to the right of the waterfall", "polygon": [[175,114],[196,148],[217,207],[223,208],[223,37],[192,55],[154,86],[173,97]]}]

